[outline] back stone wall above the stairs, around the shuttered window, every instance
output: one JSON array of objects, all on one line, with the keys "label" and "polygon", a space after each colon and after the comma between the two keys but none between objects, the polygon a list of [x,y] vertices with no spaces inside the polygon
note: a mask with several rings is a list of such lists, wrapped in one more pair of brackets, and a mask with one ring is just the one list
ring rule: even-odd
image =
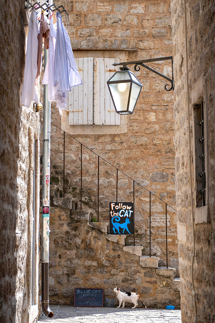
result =
[{"label": "back stone wall above the stairs, around the shuttered window", "polygon": [[[61,2],[59,2],[61,3]],[[74,51],[75,57],[121,57],[135,60],[170,56],[171,7],[169,1],[63,1],[70,13],[73,48],[106,48],[115,51]],[[132,48],[136,51],[120,51]],[[118,50],[117,50],[118,49]],[[150,65],[171,74],[171,61]],[[131,68],[133,71],[133,68]],[[116,134],[111,126],[69,126],[68,115],[60,118],[54,104],[51,119],[92,151],[122,169],[164,202],[175,205],[173,92],[164,90],[165,80],[141,68],[136,72],[143,85],[133,115],[126,117],[127,132]],[[77,130],[78,129],[78,130]],[[97,129],[97,130],[95,130]],[[95,132],[97,131],[97,132]],[[79,133],[80,135],[77,135]],[[82,135],[85,133],[86,135]],[[93,134],[97,133],[97,134]],[[108,134],[107,134],[108,133]],[[115,133],[115,134],[114,134]],[[66,134],[66,194],[77,198],[80,207],[80,144]],[[132,201],[133,182],[118,173],[118,200]],[[109,216],[109,202],[116,199],[116,169],[100,159],[101,221]],[[51,183],[63,188],[63,132],[51,127]],[[149,194],[135,185],[136,244],[149,254]],[[61,192],[62,193],[62,192]],[[97,156],[83,148],[83,204],[97,210]],[[57,228],[56,228],[57,229]],[[166,264],[165,204],[152,196],[152,255]],[[133,243],[133,236],[126,244]],[[176,213],[168,208],[168,255],[178,268]]]}]

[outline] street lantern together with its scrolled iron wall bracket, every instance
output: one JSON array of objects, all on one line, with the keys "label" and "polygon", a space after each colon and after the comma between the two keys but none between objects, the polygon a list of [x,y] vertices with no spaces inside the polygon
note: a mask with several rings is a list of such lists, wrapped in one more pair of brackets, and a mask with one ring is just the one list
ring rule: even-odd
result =
[{"label": "street lantern together with its scrolled iron wall bracket", "polygon": [[[165,60],[171,60],[172,62],[172,78],[156,71],[145,63],[160,62]],[[174,89],[174,78],[173,78],[173,60],[172,56],[149,58],[131,62],[120,62],[114,63],[113,66],[122,65],[120,71],[117,71],[108,81],[108,89],[110,96],[114,104],[114,108],[119,114],[132,114],[137,104],[137,100],[142,89],[142,84],[136,78],[134,73],[130,72],[128,65],[134,65],[134,70],[138,72],[140,66],[147,68],[149,71],[159,75],[166,79],[170,84],[165,84],[164,89],[171,91]]]}]

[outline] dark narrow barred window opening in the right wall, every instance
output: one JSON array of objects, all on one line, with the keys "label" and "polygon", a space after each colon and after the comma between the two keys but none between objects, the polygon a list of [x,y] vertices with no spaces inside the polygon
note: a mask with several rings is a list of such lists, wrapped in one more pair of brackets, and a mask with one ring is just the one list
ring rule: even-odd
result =
[{"label": "dark narrow barred window opening in the right wall", "polygon": [[204,135],[204,102],[193,105],[195,133],[196,169],[196,207],[205,206],[205,135]]}]

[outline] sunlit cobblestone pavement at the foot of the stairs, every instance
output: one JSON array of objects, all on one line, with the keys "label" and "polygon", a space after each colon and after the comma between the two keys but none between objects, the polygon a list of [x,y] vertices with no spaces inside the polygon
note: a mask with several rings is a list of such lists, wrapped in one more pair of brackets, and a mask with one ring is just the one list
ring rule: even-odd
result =
[{"label": "sunlit cobblestone pavement at the foot of the stairs", "polygon": [[50,305],[53,318],[38,323],[181,323],[180,310],[149,308],[73,307]]}]

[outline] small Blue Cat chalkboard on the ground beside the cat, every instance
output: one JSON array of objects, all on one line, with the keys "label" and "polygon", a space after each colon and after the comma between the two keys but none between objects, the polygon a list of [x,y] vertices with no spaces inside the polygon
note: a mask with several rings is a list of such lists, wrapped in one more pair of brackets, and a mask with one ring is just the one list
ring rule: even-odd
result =
[{"label": "small Blue Cat chalkboard on the ground beside the cat", "polygon": [[103,288],[75,288],[74,306],[103,307]]}]

